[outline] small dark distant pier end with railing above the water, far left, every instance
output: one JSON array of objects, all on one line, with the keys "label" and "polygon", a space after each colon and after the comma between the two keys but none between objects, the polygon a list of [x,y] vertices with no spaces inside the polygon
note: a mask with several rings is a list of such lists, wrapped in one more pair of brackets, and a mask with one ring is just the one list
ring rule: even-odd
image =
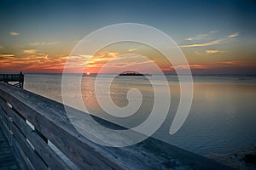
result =
[{"label": "small dark distant pier end with railing above the water, far left", "polygon": [[20,71],[20,74],[0,74],[0,82],[10,84],[9,82],[15,82],[11,84],[18,88],[23,88],[24,74]]}]

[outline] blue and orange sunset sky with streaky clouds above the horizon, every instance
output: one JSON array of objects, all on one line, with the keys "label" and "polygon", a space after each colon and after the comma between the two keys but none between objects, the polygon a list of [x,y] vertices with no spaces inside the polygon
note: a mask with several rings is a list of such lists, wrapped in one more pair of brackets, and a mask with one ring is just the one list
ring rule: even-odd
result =
[{"label": "blue and orange sunset sky with streaky clouds above the horizon", "polygon": [[[255,8],[253,0],[1,0],[0,73],[61,73],[79,40],[104,26],[129,22],[166,32],[182,49],[195,74],[255,75]],[[103,62],[121,54],[120,48],[159,57],[150,49],[126,43],[104,48],[90,60],[94,66],[88,71],[97,72]],[[164,60],[160,57],[158,62],[162,70],[172,71]]]}]

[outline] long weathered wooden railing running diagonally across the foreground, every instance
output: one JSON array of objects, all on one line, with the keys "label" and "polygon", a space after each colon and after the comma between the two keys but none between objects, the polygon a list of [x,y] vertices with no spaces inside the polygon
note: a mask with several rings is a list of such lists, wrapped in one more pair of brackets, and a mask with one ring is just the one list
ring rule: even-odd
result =
[{"label": "long weathered wooden railing running diagonally across the foreground", "polygon": [[75,130],[62,104],[3,83],[0,126],[21,169],[228,168],[152,138],[125,148],[94,144]]}]

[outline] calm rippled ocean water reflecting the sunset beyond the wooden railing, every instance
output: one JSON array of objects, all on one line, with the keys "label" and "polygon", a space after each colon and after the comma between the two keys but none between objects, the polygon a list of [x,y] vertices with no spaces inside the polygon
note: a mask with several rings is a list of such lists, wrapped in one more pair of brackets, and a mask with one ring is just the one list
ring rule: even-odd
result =
[{"label": "calm rippled ocean water reflecting the sunset beyond the wooden railing", "polygon": [[[95,79],[96,77],[82,79],[84,104],[92,114],[113,121],[113,116],[108,116],[97,105]],[[157,80],[157,77],[155,79]],[[193,79],[194,98],[189,116],[183,127],[174,135],[170,135],[169,128],[179,102],[179,83],[177,77],[167,76],[172,102],[166,122],[154,137],[200,155],[246,150],[256,144],[256,77],[196,76]],[[79,94],[73,91],[73,84],[69,86],[70,96]],[[148,80],[142,77],[116,78],[111,85],[113,102],[120,107],[127,105],[126,93],[131,88],[141,91],[143,103],[134,116],[114,118],[115,122],[126,127],[136,127],[143,122],[154,104],[153,88]],[[62,102],[61,74],[26,74],[25,89]],[[104,89],[102,86],[100,90]]]}]

